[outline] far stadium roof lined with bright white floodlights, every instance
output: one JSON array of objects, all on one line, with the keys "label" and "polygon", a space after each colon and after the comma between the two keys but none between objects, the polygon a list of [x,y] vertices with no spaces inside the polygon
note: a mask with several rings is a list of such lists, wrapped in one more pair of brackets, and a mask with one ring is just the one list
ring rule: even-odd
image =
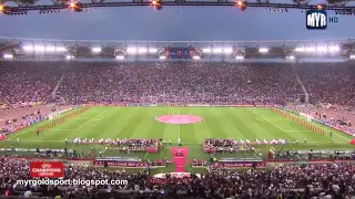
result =
[{"label": "far stadium roof lined with bright white floodlights", "polygon": [[0,38],[0,53],[11,59],[159,59],[176,51],[189,51],[195,59],[348,59],[355,55],[355,40],[95,41]]}]

